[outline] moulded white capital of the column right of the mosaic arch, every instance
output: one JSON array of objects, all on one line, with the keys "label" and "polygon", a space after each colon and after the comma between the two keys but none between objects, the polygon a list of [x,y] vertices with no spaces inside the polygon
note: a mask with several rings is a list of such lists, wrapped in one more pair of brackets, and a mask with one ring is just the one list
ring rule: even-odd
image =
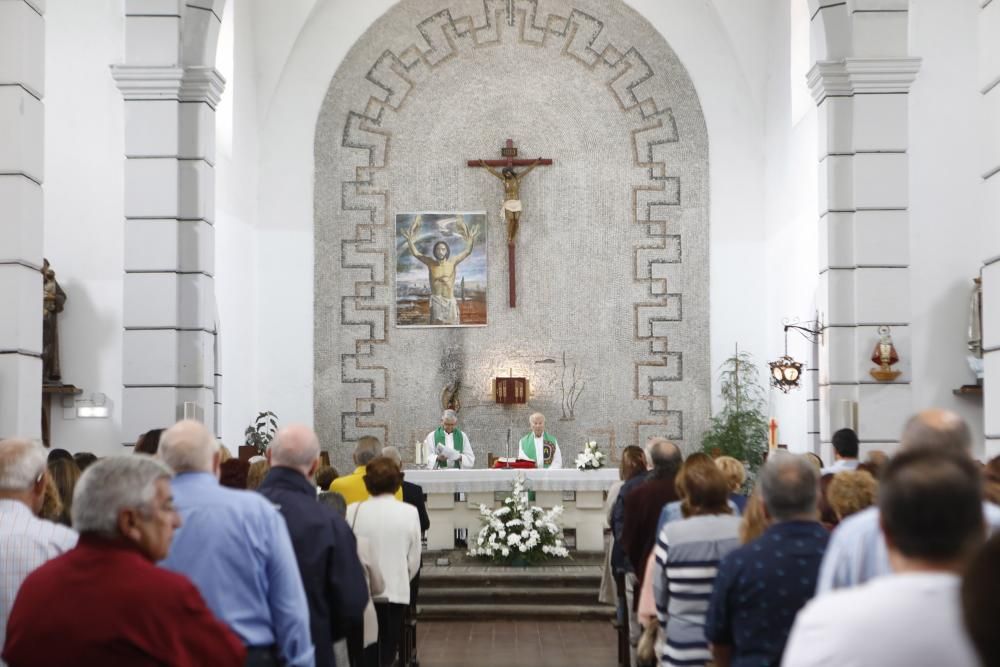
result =
[{"label": "moulded white capital of the column right of the mosaic arch", "polygon": [[907,93],[917,78],[920,58],[844,58],[820,60],[807,80],[816,104],[827,97],[859,93]]}]

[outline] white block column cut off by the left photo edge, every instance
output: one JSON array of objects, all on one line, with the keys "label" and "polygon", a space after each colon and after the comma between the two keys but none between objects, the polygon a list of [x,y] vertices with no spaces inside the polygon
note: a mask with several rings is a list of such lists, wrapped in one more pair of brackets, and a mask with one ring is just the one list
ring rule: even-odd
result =
[{"label": "white block column cut off by the left photo edge", "polygon": [[41,436],[44,0],[0,0],[0,437]]}]

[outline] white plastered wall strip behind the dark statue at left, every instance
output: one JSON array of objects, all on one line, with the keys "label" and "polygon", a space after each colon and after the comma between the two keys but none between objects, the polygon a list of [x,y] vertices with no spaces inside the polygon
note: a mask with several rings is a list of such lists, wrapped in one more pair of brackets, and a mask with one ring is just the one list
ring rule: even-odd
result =
[{"label": "white plastered wall strip behind the dark statue at left", "polygon": [[67,297],[62,376],[111,407],[108,419],[76,419],[54,398],[52,446],[98,455],[121,442],[124,110],[109,65],[123,26],[120,2],[46,3],[44,248]]}]

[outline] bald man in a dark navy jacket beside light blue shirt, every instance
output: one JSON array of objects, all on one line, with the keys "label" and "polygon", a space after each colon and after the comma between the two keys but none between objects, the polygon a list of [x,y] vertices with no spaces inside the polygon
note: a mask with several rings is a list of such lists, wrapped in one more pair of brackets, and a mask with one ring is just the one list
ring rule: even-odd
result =
[{"label": "bald man in a dark navy jacket beside light blue shirt", "polygon": [[368,588],[358,547],[347,522],[316,497],[319,439],[293,424],[275,435],[267,450],[271,471],[257,491],[285,517],[299,574],[309,602],[316,667],[333,667],[333,643],[360,625]]}]

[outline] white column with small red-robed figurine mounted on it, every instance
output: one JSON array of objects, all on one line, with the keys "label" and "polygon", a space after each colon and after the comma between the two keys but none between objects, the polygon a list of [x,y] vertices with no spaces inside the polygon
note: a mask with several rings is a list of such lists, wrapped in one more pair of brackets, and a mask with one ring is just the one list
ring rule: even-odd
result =
[{"label": "white column with small red-robed figurine mounted on it", "polygon": [[[825,54],[836,58],[819,60],[809,73],[819,112],[824,458],[831,457],[832,433],[848,425],[844,401],[857,404],[863,450],[891,450],[912,412],[907,93],[920,60],[905,57],[905,7],[821,2],[813,18],[826,22]],[[868,372],[881,325],[892,328],[902,359],[902,375],[892,382]]]}]

